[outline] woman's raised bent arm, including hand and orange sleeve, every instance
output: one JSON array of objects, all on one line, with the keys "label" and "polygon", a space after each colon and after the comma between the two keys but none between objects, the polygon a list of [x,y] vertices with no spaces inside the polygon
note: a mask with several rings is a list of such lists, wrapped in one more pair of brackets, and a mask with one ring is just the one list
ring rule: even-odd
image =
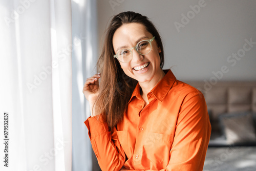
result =
[{"label": "woman's raised bent arm, including hand and orange sleeve", "polygon": [[116,130],[108,131],[108,125],[103,122],[101,115],[95,113],[93,104],[98,97],[100,74],[86,80],[83,94],[89,101],[91,117],[84,123],[88,127],[93,151],[102,170],[119,170],[125,161],[125,154],[117,138]]}]

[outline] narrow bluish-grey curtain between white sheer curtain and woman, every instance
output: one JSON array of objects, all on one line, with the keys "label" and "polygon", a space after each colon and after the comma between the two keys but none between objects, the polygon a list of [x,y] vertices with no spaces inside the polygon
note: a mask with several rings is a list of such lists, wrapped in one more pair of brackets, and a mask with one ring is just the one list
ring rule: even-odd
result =
[{"label": "narrow bluish-grey curtain between white sheer curtain and woman", "polygon": [[[98,58],[97,1],[72,1],[72,35],[72,170],[99,170],[96,158],[92,159],[91,142],[87,127],[83,123],[91,114],[88,102],[82,94],[86,79],[96,74],[95,66]],[[96,164],[93,165],[93,161]]]}]

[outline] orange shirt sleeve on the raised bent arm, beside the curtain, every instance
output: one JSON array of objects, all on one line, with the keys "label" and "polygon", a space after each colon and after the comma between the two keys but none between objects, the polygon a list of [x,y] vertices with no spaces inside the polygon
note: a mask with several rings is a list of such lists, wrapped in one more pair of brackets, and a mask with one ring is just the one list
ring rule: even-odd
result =
[{"label": "orange shirt sleeve on the raised bent arm, beside the curtain", "polygon": [[125,162],[125,154],[117,138],[116,129],[108,131],[108,125],[101,117],[89,117],[84,123],[89,132],[93,151],[102,171],[119,170]]}]

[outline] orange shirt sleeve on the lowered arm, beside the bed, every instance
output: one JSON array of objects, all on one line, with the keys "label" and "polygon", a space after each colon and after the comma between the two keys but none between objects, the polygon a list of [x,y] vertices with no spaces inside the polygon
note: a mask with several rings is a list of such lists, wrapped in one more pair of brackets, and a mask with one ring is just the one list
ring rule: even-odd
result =
[{"label": "orange shirt sleeve on the lowered arm, beside the bed", "polygon": [[203,170],[210,133],[211,125],[203,94],[195,92],[186,95],[177,118],[170,160],[161,171]]}]

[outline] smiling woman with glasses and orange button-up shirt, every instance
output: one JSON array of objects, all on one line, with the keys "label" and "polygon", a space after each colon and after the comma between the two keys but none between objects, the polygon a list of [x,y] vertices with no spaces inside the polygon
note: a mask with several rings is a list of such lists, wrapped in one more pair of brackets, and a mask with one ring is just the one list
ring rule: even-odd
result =
[{"label": "smiling woman with glasses and orange button-up shirt", "polygon": [[204,97],[163,63],[160,35],[146,16],[113,17],[101,74],[83,88],[92,113],[84,123],[102,170],[203,170],[211,132]]}]

